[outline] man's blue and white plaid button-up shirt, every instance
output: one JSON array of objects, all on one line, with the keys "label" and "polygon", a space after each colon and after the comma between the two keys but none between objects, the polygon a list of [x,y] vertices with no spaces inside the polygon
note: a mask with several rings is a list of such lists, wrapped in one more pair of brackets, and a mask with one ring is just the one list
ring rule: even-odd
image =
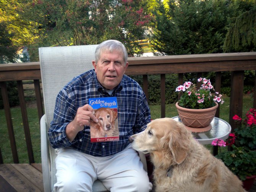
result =
[{"label": "man's blue and white plaid button-up shirt", "polygon": [[[65,132],[67,124],[73,121],[79,107],[88,104],[89,98],[96,97],[117,97],[119,141],[92,143],[90,127],[84,126],[84,130],[70,142]],[[145,94],[136,81],[124,75],[109,95],[92,69],[75,77],[59,92],[48,135],[53,148],[71,147],[93,156],[109,156],[126,148],[128,138],[146,129],[150,119]]]}]

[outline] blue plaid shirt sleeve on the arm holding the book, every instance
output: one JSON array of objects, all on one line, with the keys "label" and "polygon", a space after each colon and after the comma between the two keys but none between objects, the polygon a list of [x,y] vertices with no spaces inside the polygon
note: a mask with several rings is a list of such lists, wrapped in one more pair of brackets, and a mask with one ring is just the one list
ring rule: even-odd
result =
[{"label": "blue plaid shirt sleeve on the arm holding the book", "polygon": [[66,126],[75,117],[71,96],[62,89],[56,98],[53,120],[48,131],[49,141],[53,148],[69,147],[72,143],[66,136]]}]

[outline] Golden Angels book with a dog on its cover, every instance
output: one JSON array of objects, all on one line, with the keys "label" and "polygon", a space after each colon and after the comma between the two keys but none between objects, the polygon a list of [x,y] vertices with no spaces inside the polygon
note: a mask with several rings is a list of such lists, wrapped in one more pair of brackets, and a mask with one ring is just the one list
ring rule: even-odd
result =
[{"label": "Golden Angels book with a dog on its cover", "polygon": [[117,97],[89,98],[98,123],[91,121],[91,142],[119,140]]}]

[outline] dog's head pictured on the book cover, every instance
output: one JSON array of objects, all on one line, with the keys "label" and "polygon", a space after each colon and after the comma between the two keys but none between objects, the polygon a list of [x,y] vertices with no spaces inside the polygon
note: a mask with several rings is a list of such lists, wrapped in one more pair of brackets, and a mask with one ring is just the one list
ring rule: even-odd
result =
[{"label": "dog's head pictured on the book cover", "polygon": [[95,110],[94,115],[99,120],[98,124],[100,127],[102,127],[105,131],[114,126],[115,119],[117,118],[117,112],[105,107]]}]

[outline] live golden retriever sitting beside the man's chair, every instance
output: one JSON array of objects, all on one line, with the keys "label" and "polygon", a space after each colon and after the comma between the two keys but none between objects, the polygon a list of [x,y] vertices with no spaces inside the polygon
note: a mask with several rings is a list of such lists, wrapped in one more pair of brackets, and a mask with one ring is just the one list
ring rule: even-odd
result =
[{"label": "live golden retriever sitting beside the man's chair", "polygon": [[129,141],[150,153],[156,192],[245,192],[238,177],[172,118],[151,121]]}]

